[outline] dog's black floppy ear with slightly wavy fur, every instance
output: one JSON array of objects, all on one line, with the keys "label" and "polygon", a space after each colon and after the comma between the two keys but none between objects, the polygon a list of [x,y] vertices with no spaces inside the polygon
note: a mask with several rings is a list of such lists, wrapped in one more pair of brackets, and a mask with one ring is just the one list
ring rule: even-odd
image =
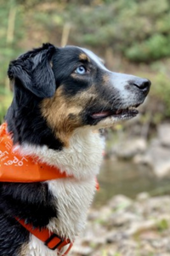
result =
[{"label": "dog's black floppy ear with slightly wavy fur", "polygon": [[55,51],[54,45],[42,44],[42,48],[20,55],[9,64],[9,79],[14,80],[14,84],[20,80],[27,90],[40,98],[54,96],[56,85],[50,61]]}]

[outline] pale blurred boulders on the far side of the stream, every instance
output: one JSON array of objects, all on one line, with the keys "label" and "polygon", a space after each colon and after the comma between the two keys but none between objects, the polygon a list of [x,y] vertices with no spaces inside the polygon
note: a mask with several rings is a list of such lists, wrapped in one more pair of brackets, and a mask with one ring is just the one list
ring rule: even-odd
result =
[{"label": "pale blurred boulders on the far side of the stream", "polygon": [[108,157],[150,166],[156,177],[170,177],[170,124],[158,125],[156,137],[150,142],[144,137],[122,137],[107,154]]}]

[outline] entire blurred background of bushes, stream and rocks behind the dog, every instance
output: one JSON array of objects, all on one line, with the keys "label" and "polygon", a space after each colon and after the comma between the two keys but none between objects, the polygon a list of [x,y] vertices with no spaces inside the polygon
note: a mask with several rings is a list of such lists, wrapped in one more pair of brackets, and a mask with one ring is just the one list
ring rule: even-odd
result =
[{"label": "entire blurred background of bushes, stream and rocks behind the dog", "polygon": [[0,23],[0,123],[9,61],[42,43],[92,49],[109,69],[151,80],[139,117],[105,133],[100,189],[71,255],[170,255],[170,1],[0,0]]}]

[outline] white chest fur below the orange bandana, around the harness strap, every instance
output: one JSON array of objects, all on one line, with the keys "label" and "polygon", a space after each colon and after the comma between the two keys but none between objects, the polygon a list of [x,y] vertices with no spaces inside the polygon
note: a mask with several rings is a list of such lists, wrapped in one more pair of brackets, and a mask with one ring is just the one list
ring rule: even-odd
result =
[{"label": "white chest fur below the orange bandana, around the harness strap", "polygon": [[[71,178],[59,179],[49,181],[48,186],[56,196],[59,214],[58,218],[50,221],[48,229],[73,241],[85,226],[88,207],[94,197],[95,180],[80,182]],[[35,236],[31,236],[29,253],[26,256],[40,255],[57,256],[58,254],[45,247]]]}]

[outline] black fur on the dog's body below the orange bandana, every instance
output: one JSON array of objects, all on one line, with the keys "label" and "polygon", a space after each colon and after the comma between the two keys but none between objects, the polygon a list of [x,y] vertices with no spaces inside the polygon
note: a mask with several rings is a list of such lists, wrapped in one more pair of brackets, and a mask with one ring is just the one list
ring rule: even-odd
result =
[{"label": "black fur on the dog's body below the orange bandana", "polygon": [[29,232],[14,217],[42,229],[57,217],[46,183],[0,183],[0,255],[18,256]]}]

